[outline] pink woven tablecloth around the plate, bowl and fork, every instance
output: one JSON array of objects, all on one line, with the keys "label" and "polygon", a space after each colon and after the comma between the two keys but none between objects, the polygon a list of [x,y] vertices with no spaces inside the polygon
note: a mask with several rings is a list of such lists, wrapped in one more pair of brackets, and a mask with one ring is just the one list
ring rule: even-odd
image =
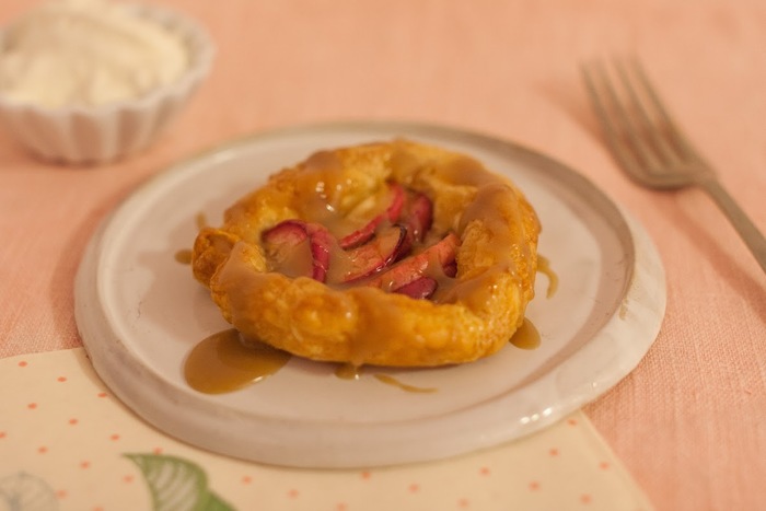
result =
[{"label": "pink woven tablecloth around the plate, bowl and fork", "polygon": [[[578,66],[635,51],[766,232],[762,0],[167,0],[218,45],[209,81],[149,152],[38,162],[0,132],[0,357],[80,346],[72,279],[97,223],[147,177],[253,131],[411,119],[569,164],[641,221],[668,274],[662,332],[585,411],[661,510],[766,504],[766,276],[701,193],[640,189],[601,142]],[[31,2],[4,0],[0,22]]]}]

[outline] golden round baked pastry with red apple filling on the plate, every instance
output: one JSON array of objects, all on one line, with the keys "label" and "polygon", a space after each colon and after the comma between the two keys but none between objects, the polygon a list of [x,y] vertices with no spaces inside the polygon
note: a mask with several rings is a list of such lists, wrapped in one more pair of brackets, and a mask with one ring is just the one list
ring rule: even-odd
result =
[{"label": "golden round baked pastry with red apple filling on the plate", "polygon": [[539,222],[506,177],[394,140],[320,151],[197,235],[192,266],[245,337],[313,360],[433,367],[508,344]]}]

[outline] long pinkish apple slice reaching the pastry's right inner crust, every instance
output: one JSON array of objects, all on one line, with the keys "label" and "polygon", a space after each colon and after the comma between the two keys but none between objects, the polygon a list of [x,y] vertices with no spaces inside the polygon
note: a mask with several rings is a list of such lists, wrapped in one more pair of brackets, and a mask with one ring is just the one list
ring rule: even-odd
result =
[{"label": "long pinkish apple slice reaching the pastry's right inner crust", "polygon": [[[370,286],[376,286],[385,291],[394,291],[423,277],[431,265],[440,265],[436,271],[446,275],[448,268],[455,263],[455,254],[460,246],[460,237],[449,233],[439,243],[432,245],[420,254],[402,259],[391,269],[370,281]],[[455,266],[456,268],[456,266]],[[433,269],[433,268],[431,268]],[[454,276],[454,274],[452,275]]]}]

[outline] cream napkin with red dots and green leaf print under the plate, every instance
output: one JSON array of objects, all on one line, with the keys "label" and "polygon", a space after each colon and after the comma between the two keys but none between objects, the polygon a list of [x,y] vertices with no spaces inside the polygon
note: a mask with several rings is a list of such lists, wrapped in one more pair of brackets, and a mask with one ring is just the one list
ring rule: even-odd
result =
[{"label": "cream napkin with red dots and green leaf print under the plate", "polygon": [[82,348],[0,360],[0,510],[650,510],[580,411],[445,461],[316,471],[178,442],[112,396]]}]

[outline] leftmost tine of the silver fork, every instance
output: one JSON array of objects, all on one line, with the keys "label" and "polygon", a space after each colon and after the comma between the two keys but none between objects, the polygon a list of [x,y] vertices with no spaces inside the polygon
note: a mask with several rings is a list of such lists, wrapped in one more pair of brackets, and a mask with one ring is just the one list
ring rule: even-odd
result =
[{"label": "leftmost tine of the silver fork", "polygon": [[[620,166],[628,173],[628,175],[640,182],[643,176],[641,162],[636,158],[636,154],[623,143],[620,136],[623,130],[618,129],[617,125],[612,120],[613,116],[610,114],[611,109],[615,111],[617,116],[622,119],[622,124],[624,124],[627,119],[627,114],[622,108],[622,105],[617,98],[617,93],[611,85],[610,80],[606,78],[606,71],[604,70],[603,65],[593,63],[590,67],[581,66],[581,72],[585,82],[588,95],[591,98],[596,117],[599,117],[599,121],[604,129],[606,142],[612,150],[612,153],[617,159]],[[596,81],[599,82],[597,84]],[[604,91],[604,93],[600,93],[600,90]],[[603,95],[607,96],[608,100],[602,100]],[[627,135],[629,137],[630,133],[632,133],[632,131],[628,130]],[[631,142],[638,142],[635,133],[630,138]]]}]

